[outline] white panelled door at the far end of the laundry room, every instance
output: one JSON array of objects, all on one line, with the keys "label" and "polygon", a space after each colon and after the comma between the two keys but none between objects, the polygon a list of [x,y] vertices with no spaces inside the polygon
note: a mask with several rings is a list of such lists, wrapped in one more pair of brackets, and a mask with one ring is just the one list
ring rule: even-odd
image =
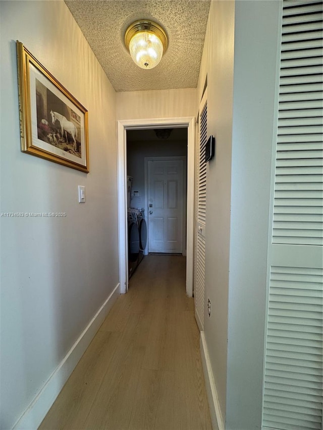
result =
[{"label": "white panelled door at the far end of the laundry room", "polygon": [[148,248],[183,252],[183,159],[148,161]]}]

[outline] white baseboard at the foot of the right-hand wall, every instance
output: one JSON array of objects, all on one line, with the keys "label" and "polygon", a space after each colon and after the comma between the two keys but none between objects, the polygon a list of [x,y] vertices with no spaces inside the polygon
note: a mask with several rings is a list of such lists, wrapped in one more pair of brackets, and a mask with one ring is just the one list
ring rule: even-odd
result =
[{"label": "white baseboard at the foot of the right-hand wall", "polygon": [[204,332],[201,332],[200,336],[200,352],[201,360],[204,373],[205,388],[208,400],[208,406],[210,409],[210,416],[212,421],[213,430],[225,430],[225,425],[222,418],[217,387],[214,382],[213,372],[211,363],[208,355],[208,349],[206,345]]}]

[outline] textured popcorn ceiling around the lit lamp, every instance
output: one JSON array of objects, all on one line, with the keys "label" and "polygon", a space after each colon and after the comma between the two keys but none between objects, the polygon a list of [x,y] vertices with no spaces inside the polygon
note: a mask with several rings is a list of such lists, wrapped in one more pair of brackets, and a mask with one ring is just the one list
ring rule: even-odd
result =
[{"label": "textured popcorn ceiling around the lit lamp", "polygon": [[[209,0],[65,0],[116,91],[195,88]],[[148,18],[162,25],[169,46],[158,66],[136,66],[124,45],[129,24]]]}]

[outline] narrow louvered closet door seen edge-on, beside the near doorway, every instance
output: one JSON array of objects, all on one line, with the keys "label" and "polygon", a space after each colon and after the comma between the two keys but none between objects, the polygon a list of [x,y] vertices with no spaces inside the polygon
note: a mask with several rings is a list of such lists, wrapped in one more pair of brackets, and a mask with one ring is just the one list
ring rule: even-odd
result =
[{"label": "narrow louvered closet door seen edge-on, beside the near doorway", "polygon": [[199,110],[199,151],[197,168],[196,259],[195,259],[195,318],[199,329],[204,330],[204,274],[205,274],[205,215],[206,215],[206,163],[207,95],[202,97]]}]

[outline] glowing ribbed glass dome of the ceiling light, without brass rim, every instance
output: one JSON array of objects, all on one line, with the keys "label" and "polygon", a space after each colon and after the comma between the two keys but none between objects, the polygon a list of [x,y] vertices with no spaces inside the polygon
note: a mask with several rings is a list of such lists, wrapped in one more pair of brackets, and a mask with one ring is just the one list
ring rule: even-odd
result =
[{"label": "glowing ribbed glass dome of the ceiling light, without brass rim", "polygon": [[152,33],[137,33],[130,40],[129,51],[131,58],[141,69],[152,69],[163,56],[163,43]]}]

